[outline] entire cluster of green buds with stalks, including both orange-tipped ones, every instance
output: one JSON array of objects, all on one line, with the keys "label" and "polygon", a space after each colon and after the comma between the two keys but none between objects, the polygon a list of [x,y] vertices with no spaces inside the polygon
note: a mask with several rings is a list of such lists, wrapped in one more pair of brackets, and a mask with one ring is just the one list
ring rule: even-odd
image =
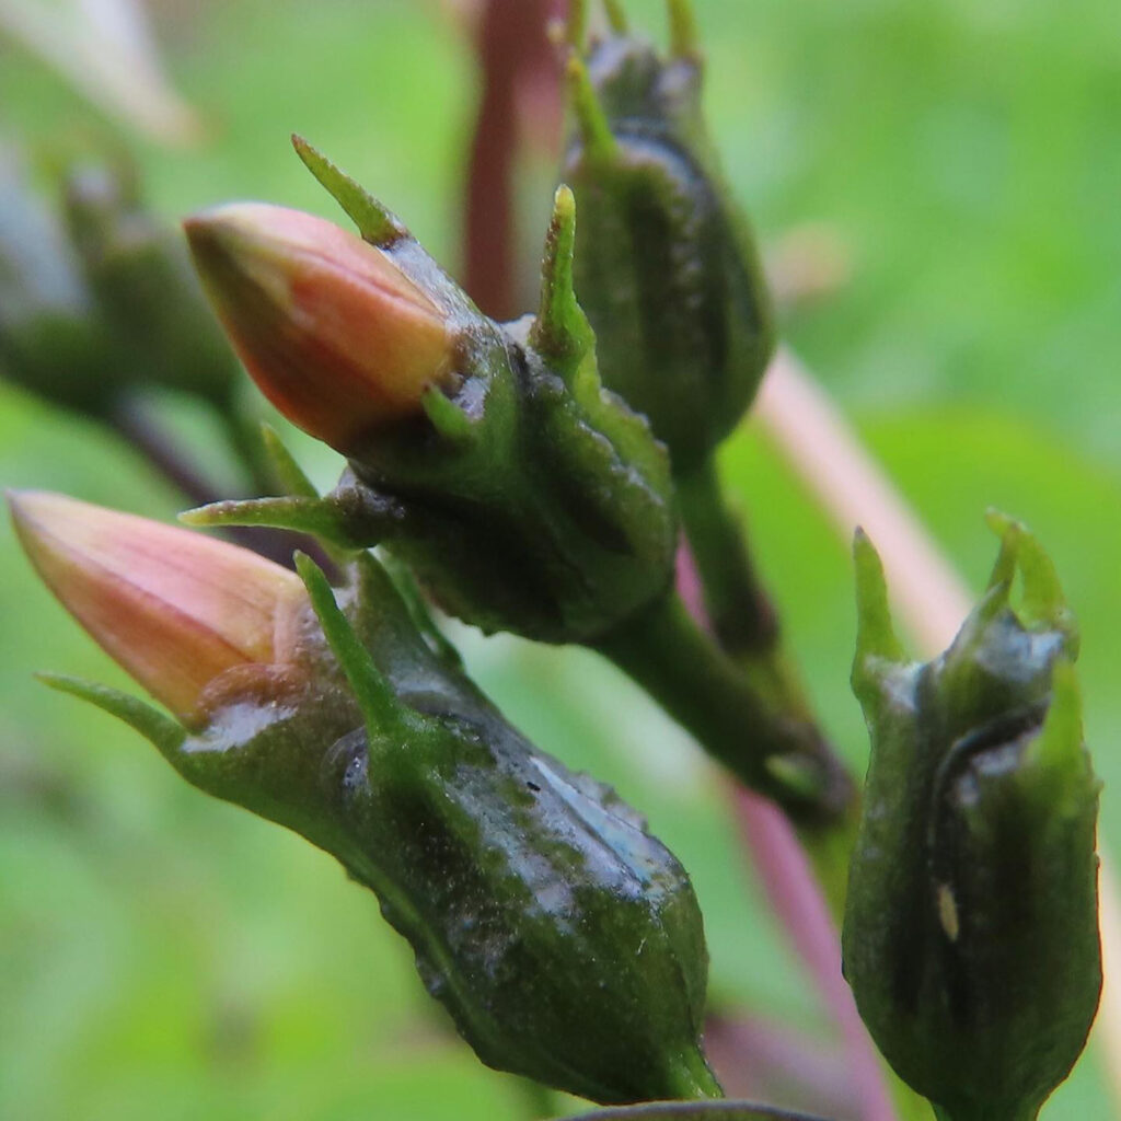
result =
[{"label": "entire cluster of green buds with stalks, including both orange-tipped ones", "polygon": [[[844,973],[904,1081],[944,1121],[1031,1121],[1085,1044],[1102,975],[1073,618],[1036,539],[992,515],[988,591],[948,650],[914,664],[858,534],[852,684],[871,758],[850,869],[853,784],[786,669],[714,470],[773,326],[705,132],[688,3],[668,0],[668,57],[605,7],[610,31],[590,43],[586,3],[569,8],[564,175],[581,225],[559,187],[536,314],[484,316],[299,138],[356,233],[263,203],[185,223],[245,369],[345,457],[325,495],[271,432],[269,470],[247,453],[187,258],[127,179],[73,177],[65,235],[35,207],[26,229],[0,224],[0,370],[103,419],[141,380],[202,397],[288,493],[184,520],[311,535],[337,577],[12,494],[44,582],[167,711],[45,679],[333,854],[483,1062],[606,1103],[715,1096],[684,869],[614,791],[504,720],[426,596],[484,632],[592,647],[781,806],[839,912],[850,872]],[[0,166],[6,195],[27,204]],[[679,512],[714,637],[673,592]]]}]

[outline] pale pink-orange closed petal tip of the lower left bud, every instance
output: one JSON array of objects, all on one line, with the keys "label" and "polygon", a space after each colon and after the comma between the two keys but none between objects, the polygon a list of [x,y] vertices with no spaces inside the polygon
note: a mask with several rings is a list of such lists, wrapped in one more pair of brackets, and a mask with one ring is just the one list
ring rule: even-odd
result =
[{"label": "pale pink-orange closed petal tip of the lower left bud", "polygon": [[248,549],[62,494],[9,494],[43,582],[117,663],[200,726],[230,671],[282,663],[295,573]]}]

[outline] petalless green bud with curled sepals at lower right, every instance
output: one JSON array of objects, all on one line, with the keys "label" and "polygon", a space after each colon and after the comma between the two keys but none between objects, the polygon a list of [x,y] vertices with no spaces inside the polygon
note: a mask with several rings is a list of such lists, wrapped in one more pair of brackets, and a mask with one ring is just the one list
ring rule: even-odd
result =
[{"label": "petalless green bud with curled sepals at lower right", "polygon": [[990,524],[989,590],[925,665],[904,659],[879,557],[855,545],[853,687],[872,756],[844,970],[880,1049],[949,1121],[1035,1118],[1085,1045],[1102,980],[1076,631],[1036,539]]}]

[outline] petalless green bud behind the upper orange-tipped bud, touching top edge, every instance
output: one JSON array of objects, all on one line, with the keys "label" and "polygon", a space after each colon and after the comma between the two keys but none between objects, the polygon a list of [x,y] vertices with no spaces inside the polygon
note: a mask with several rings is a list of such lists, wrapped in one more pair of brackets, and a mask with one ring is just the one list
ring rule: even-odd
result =
[{"label": "petalless green bud behind the upper orange-tipped bud, touching top edge", "polygon": [[668,58],[618,11],[581,57],[584,4],[574,8],[563,176],[581,209],[576,289],[604,385],[688,473],[754,397],[775,345],[770,300],[705,128],[687,2],[670,0]]}]

